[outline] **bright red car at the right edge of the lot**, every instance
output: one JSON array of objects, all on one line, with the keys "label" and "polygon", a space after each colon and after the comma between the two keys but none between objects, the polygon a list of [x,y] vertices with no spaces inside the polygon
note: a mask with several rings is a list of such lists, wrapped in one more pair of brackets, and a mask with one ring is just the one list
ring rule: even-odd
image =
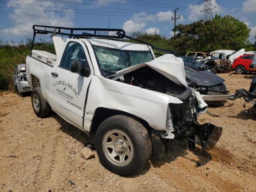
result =
[{"label": "bright red car at the right edge of the lot", "polygon": [[253,54],[241,55],[236,58],[231,68],[236,74],[245,74],[246,72],[256,72],[256,66],[252,64]]}]

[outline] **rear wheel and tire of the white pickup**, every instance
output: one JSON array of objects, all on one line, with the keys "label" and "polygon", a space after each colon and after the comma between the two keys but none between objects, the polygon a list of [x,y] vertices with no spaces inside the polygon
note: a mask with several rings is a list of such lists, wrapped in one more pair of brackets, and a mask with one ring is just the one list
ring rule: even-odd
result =
[{"label": "rear wheel and tire of the white pickup", "polygon": [[34,112],[38,117],[45,117],[50,114],[51,107],[46,100],[44,100],[40,87],[36,87],[32,90],[31,102]]}]

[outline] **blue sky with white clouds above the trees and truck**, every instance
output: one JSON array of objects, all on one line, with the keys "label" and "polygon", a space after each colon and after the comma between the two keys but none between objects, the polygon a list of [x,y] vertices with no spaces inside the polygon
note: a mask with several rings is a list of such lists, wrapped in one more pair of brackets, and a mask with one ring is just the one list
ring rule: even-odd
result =
[{"label": "blue sky with white clouds above the trees and truck", "polygon": [[[80,27],[122,28],[172,37],[174,8],[176,24],[202,19],[200,0],[0,0],[0,39],[19,42],[32,38],[33,24]],[[256,0],[212,0],[212,14],[231,15],[251,28],[251,42],[256,41]],[[50,40],[50,36],[37,38]]]}]

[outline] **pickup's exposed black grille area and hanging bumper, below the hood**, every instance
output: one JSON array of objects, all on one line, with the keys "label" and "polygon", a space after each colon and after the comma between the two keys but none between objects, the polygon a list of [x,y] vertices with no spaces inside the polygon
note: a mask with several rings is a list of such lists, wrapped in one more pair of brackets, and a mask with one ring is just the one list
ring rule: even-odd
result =
[{"label": "pickup's exposed black grille area and hanging bumper, below the hood", "polygon": [[[198,100],[191,94],[182,104],[169,104],[166,117],[166,130],[152,130],[154,151],[158,156],[166,153],[168,139],[188,140],[188,147],[198,144],[202,150],[211,150],[222,135],[222,128],[210,123],[197,121]],[[168,115],[170,114],[170,115]]]}]

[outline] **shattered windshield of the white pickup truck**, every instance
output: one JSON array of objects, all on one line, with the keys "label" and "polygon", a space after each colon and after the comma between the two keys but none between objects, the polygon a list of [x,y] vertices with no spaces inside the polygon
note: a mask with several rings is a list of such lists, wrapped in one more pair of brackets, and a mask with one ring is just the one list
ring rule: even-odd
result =
[{"label": "shattered windshield of the white pickup truck", "polygon": [[153,55],[148,51],[120,50],[93,45],[98,66],[103,71],[119,71],[130,66],[152,61]]}]

